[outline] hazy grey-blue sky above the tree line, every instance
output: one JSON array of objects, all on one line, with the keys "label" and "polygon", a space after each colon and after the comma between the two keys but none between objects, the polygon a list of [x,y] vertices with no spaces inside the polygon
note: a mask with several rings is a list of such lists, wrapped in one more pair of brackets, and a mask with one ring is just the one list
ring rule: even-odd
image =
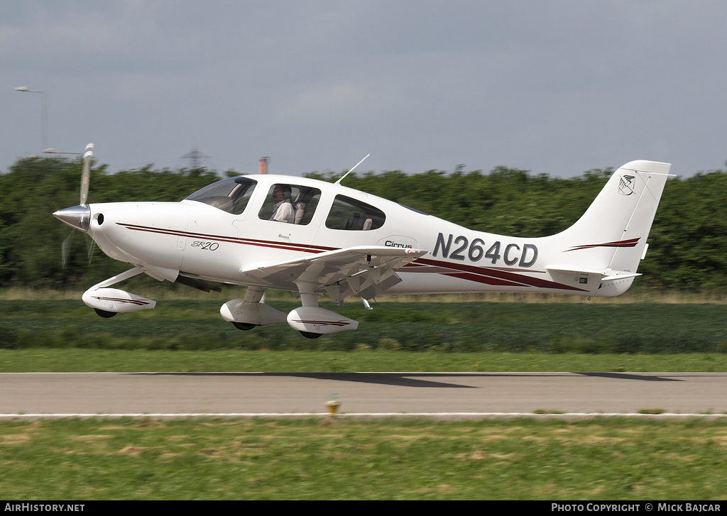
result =
[{"label": "hazy grey-blue sky above the tree line", "polygon": [[219,172],[689,177],[727,159],[726,25],[709,0],[6,1],[0,172],[93,142],[112,172],[196,150]]}]

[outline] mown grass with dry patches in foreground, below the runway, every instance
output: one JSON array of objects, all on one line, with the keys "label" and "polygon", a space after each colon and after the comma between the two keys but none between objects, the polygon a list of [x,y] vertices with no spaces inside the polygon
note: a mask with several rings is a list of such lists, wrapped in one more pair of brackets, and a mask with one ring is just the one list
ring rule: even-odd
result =
[{"label": "mown grass with dry patches in foreground, below the runway", "polygon": [[0,498],[721,500],[717,422],[0,424]]}]

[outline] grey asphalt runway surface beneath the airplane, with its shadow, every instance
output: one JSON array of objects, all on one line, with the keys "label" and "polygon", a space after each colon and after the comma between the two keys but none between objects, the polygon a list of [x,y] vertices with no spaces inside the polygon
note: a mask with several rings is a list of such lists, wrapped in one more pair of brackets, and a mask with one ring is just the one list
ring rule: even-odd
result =
[{"label": "grey asphalt runway surface beneath the airplane, with its shadow", "polygon": [[7,373],[0,420],[38,417],[727,417],[727,373]]}]

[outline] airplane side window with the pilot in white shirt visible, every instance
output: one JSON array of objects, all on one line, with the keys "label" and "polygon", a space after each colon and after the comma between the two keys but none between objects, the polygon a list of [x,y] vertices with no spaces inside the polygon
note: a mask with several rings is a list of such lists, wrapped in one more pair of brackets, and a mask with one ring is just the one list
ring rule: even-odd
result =
[{"label": "airplane side window with the pilot in white shirt visible", "polygon": [[263,220],[307,225],[318,207],[321,190],[278,183],[270,187],[258,213]]}]

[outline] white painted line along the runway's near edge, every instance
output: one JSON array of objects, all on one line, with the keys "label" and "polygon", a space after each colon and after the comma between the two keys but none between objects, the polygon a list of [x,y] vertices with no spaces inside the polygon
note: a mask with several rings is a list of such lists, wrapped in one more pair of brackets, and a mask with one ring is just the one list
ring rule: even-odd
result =
[{"label": "white painted line along the runway's near edge", "polygon": [[[664,412],[662,414],[641,414],[639,412],[562,412],[551,414],[537,414],[533,412],[348,412],[336,414],[334,419],[346,417],[533,417],[538,419],[555,418],[595,418],[595,417],[638,417],[638,418],[727,418],[727,414],[683,414],[678,412]],[[0,414],[0,419],[63,419],[63,418],[216,418],[216,417],[330,417],[327,412],[221,412],[221,413],[127,413],[127,414]]]}]

